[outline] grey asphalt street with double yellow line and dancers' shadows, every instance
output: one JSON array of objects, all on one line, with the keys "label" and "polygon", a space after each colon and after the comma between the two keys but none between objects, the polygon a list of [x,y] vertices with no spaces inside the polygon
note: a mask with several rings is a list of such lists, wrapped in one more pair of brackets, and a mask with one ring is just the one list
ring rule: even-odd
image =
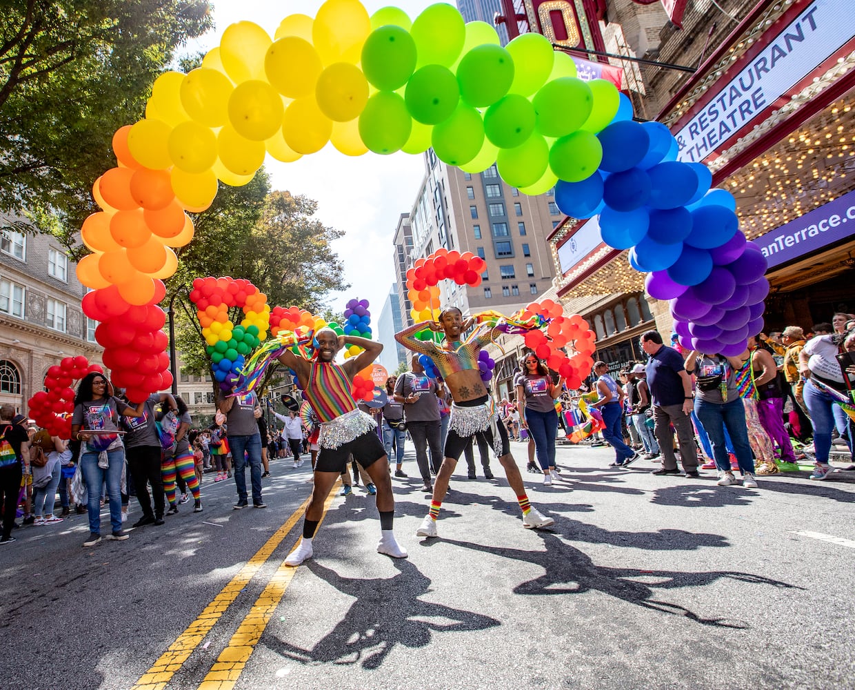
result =
[{"label": "grey asphalt street with double yellow line and dancers' shadows", "polygon": [[374,497],[337,487],[314,558],[282,564],[308,462],[273,461],[267,509],[233,510],[233,482],[206,474],[203,513],[187,503],[124,542],[81,548],[85,515],[17,529],[0,686],[855,687],[855,472],[745,489],[608,467],[608,448],[557,457],[556,485],[523,474],[550,529],[522,527],[497,461],[492,481],[462,461],[428,540],[408,448],[399,561],[375,552]]}]

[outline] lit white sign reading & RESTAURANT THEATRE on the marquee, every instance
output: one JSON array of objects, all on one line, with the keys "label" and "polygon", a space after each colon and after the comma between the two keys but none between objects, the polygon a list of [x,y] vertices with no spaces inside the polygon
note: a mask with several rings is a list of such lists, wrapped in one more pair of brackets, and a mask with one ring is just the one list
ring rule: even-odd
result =
[{"label": "lit white sign reading & RESTAURANT THEATRE on the marquee", "polygon": [[[678,159],[705,160],[852,40],[852,0],[813,0],[676,132]],[[764,37],[765,40],[765,37]],[[722,80],[723,81],[723,80]],[[761,117],[761,120],[763,118]]]}]

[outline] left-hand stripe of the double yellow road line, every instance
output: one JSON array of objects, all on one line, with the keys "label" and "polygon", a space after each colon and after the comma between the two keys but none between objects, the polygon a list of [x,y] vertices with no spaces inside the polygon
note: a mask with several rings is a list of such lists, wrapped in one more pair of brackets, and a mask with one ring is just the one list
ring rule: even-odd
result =
[{"label": "left-hand stripe of the double yellow road line", "polygon": [[220,620],[220,617],[225,613],[229,605],[238,598],[240,591],[252,580],[262,565],[268,561],[268,558],[273,555],[274,550],[286,538],[288,532],[291,532],[297,520],[303,516],[308,504],[309,498],[306,498],[300,507],[288,518],[286,523],[274,532],[273,536],[267,540],[262,548],[257,550],[255,556],[252,556],[246,562],[245,566],[240,568],[239,573],[222,588],[214,600],[199,614],[199,617],[187,626],[186,630],[169,645],[168,650],[164,651],[161,657],[151,665],[150,669],[139,677],[139,681],[133,685],[132,690],[164,690],[175,672],[181,668],[181,665],[186,662],[187,658],[190,657],[192,652],[202,642],[205,635]]}]

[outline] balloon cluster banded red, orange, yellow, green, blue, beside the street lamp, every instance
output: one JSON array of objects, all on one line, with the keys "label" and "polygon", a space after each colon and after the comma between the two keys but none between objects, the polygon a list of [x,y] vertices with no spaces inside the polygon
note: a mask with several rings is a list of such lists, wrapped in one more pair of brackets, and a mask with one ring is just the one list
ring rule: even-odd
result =
[{"label": "balloon cluster banded red, orange, yellow, green, blue, beside the street lamp", "polygon": [[[197,309],[214,378],[221,390],[231,391],[239,385],[247,355],[267,338],[267,295],[243,278],[209,276],[193,281],[190,300]],[[229,318],[232,307],[244,312],[239,325]]]}]

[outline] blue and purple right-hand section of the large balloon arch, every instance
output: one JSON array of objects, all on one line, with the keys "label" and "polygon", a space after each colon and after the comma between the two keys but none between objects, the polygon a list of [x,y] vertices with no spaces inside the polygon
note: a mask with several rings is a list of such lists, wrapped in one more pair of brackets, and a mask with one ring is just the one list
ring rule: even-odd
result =
[{"label": "blue and purple right-hand section of the large balloon arch", "polygon": [[599,214],[603,241],[629,249],[630,265],[648,273],[647,293],[673,300],[684,347],[744,351],[746,334],[763,327],[769,283],[762,253],[739,229],[733,195],[710,189],[704,165],[676,161],[676,141],[659,122],[616,119],[597,139],[598,170],[584,181],[559,181],[558,208],[579,218]]}]

